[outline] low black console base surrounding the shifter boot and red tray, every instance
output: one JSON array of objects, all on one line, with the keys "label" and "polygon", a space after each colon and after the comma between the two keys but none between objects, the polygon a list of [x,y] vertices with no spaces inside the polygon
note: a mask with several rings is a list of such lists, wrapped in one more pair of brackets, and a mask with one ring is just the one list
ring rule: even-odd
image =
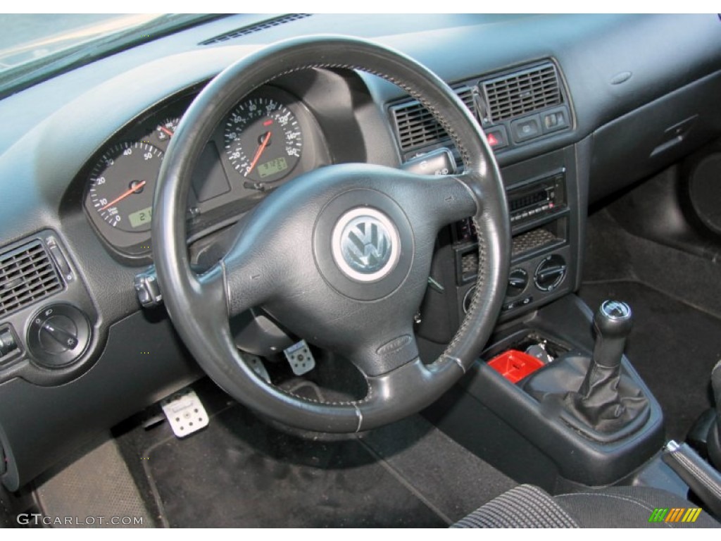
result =
[{"label": "low black console base surrounding the shifter boot and red tray", "polygon": [[[540,344],[549,359],[529,377],[513,382],[487,362],[509,348],[519,344],[526,348],[531,342]],[[589,421],[567,407],[583,394],[597,345],[593,313],[574,294],[565,295],[521,321],[501,325],[482,359],[426,415],[446,434],[519,483],[554,492],[632,477],[663,447],[663,415],[629,360],[620,354],[617,370],[622,395],[603,397],[599,404],[613,409],[610,423],[603,424],[608,419]],[[638,396],[642,403],[628,419],[624,410],[619,410],[617,420],[614,400],[618,398],[616,403],[620,403],[631,395],[630,400]],[[588,413],[593,404],[577,409]]]}]

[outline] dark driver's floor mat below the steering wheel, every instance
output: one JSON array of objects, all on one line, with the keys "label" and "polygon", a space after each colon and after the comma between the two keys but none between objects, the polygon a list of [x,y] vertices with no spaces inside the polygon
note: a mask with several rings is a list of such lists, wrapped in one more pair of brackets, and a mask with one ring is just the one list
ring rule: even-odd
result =
[{"label": "dark driver's floor mat below the steering wheel", "polygon": [[359,441],[306,441],[230,408],[148,452],[171,527],[438,527]]}]

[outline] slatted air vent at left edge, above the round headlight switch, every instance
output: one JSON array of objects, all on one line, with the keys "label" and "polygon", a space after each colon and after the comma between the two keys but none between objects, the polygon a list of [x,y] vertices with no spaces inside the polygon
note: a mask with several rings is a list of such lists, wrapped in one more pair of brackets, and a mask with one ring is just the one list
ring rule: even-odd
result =
[{"label": "slatted air vent at left edge, above the round headlight switch", "polygon": [[62,288],[40,240],[0,254],[0,316]]}]

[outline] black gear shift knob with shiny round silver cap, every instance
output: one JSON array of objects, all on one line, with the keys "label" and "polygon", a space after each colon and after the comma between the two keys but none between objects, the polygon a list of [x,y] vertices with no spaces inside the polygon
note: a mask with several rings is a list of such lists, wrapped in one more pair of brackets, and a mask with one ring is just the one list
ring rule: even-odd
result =
[{"label": "black gear shift knob with shiny round silver cap", "polygon": [[619,366],[632,326],[633,317],[628,304],[603,301],[593,316],[593,327],[596,328],[593,362],[605,368]]}]

